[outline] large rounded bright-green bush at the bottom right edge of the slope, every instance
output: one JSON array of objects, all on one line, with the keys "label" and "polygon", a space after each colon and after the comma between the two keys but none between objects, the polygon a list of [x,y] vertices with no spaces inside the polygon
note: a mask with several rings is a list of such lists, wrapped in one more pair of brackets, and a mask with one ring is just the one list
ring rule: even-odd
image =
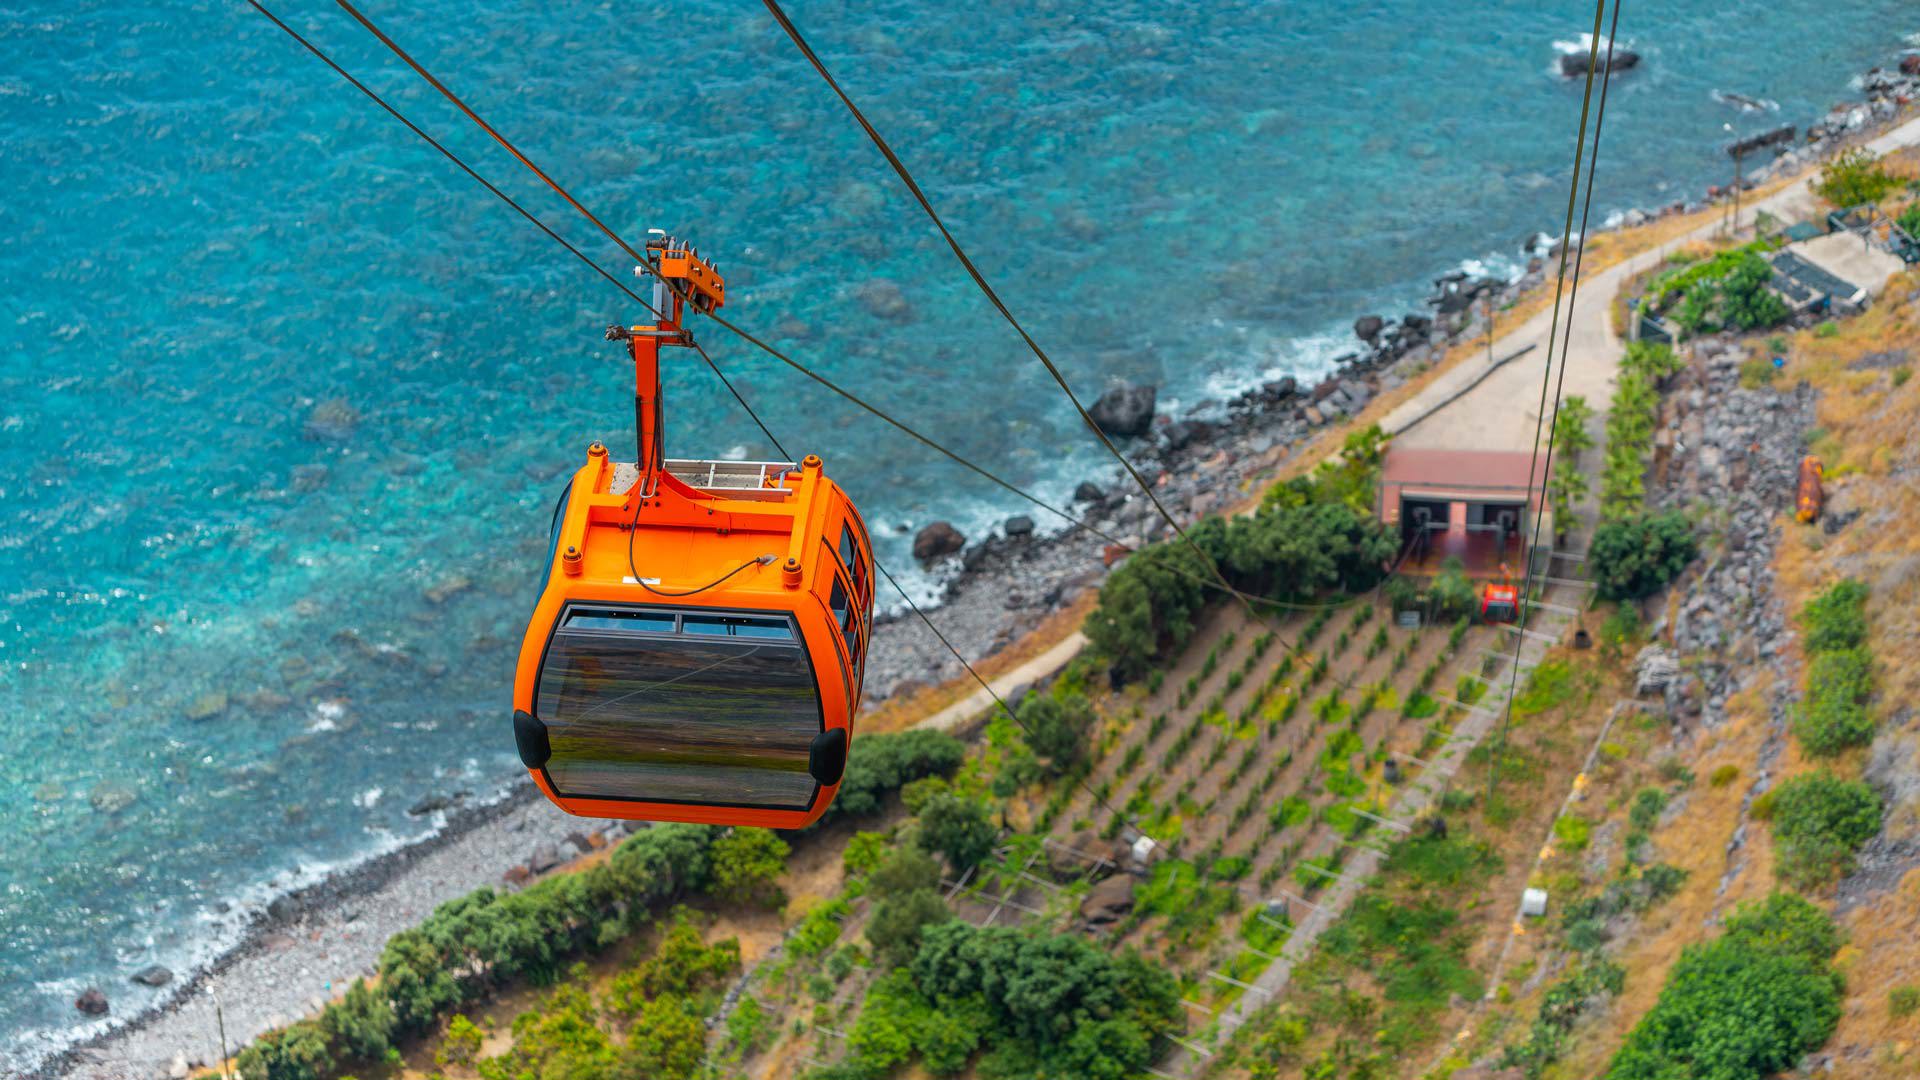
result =
[{"label": "large rounded bright-green bush at the bottom right edge of the slope", "polygon": [[1837,945],[1826,913],[1797,896],[1743,905],[1720,938],[1680,953],[1607,1080],[1747,1080],[1789,1068],[1839,1022]]}]

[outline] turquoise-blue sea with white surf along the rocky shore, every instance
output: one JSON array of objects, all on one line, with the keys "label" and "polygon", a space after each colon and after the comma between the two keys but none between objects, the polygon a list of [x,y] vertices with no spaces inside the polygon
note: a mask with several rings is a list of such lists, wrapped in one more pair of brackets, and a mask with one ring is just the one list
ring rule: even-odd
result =
[{"label": "turquoise-blue sea with white surf along the rocky shore", "polygon": [[[334,6],[276,10],[614,273],[630,265]],[[372,12],[730,315],[1006,477],[1098,448],[758,4]],[[1572,2],[806,2],[795,19],[1091,400],[1294,373],[1557,231]],[[1596,221],[1724,183],[1920,31],[1905,0],[1628,6]],[[1734,90],[1778,102],[1741,113]],[[553,498],[624,446],[637,311],[238,2],[0,10],[0,1070],[275,890],[520,782],[511,665]],[[885,282],[876,286],[876,282]],[[716,331],[797,452],[904,528],[1002,492]],[[703,369],[674,455],[772,450]],[[914,577],[931,592],[933,582]]]}]

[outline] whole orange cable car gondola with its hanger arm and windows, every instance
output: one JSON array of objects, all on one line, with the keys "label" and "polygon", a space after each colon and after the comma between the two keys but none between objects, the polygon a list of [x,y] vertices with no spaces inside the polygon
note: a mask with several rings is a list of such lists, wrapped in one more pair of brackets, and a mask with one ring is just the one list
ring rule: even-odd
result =
[{"label": "whole orange cable car gondola with its hanger arm and windows", "polygon": [[[653,231],[634,356],[634,463],[588,448],[553,511],[520,644],[520,761],[582,817],[799,828],[839,790],[874,613],[874,550],[820,457],[668,461],[660,346],[726,282]],[[641,271],[645,267],[636,267]]]}]

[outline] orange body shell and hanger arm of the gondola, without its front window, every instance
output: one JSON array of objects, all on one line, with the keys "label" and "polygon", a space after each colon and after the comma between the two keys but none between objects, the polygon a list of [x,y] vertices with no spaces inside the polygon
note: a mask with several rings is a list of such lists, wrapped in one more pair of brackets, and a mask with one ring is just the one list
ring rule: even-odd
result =
[{"label": "orange body shell and hanger arm of the gondola, without its front window", "polygon": [[[649,250],[655,250],[655,244],[649,244]],[[662,277],[684,281],[685,286],[660,290],[672,294],[672,307],[662,306],[662,319],[655,327],[634,327],[622,334],[634,354],[641,450],[641,459],[636,465],[639,477],[626,492],[614,492],[614,463],[607,448],[599,442],[588,448],[586,465],[574,473],[568,488],[547,586],[520,644],[513,707],[538,717],[534,688],[540,680],[547,642],[570,601],[639,601],[653,607],[791,613],[814,667],[822,730],[847,730],[851,748],[852,719],[860,703],[858,673],[828,598],[833,582],[843,580],[849,603],[858,617],[858,650],[864,657],[872,632],[874,600],[874,552],[866,527],[847,494],[826,477],[816,455],[808,455],[797,471],[780,477],[778,488],[770,488],[766,494],[741,492],[739,498],[693,488],[666,471],[657,454],[659,430],[653,427],[659,423],[660,346],[691,344],[691,336],[680,327],[684,302],[691,300],[701,309],[718,307],[724,302],[724,284],[712,267],[699,261],[691,250],[668,248],[657,265],[662,269]],[[609,336],[614,334],[609,332]],[[839,571],[835,542],[843,525],[852,530],[860,559],[868,567],[864,590],[858,582],[845,580]],[[632,536],[628,536],[630,530]],[[764,555],[774,555],[774,559],[749,565],[728,580],[687,596],[645,592],[636,584],[632,573],[637,571],[641,580],[662,594],[680,594],[699,590],[728,571]],[[530,773],[555,805],[580,817],[766,828],[810,824],[826,813],[839,790],[839,784],[818,786],[804,811],[780,811],[570,798],[555,790],[545,767]]]}]

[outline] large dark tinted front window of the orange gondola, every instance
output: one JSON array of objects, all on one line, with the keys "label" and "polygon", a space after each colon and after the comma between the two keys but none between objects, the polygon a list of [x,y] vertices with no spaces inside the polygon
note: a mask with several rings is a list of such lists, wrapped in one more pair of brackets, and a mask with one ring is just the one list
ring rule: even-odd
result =
[{"label": "large dark tinted front window of the orange gondola", "polygon": [[570,607],[540,671],[555,790],[586,799],[806,809],[822,730],[785,617]]}]

